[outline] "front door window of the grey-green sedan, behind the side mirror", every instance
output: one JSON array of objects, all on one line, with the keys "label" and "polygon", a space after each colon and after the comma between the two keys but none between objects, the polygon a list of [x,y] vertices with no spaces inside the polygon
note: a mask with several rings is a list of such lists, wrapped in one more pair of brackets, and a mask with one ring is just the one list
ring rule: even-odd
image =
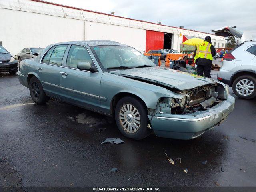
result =
[{"label": "front door window of the grey-green sedan, behind the side mirror", "polygon": [[66,66],[77,68],[79,62],[89,62],[90,64],[93,64],[92,58],[85,47],[72,45],[68,52]]}]

